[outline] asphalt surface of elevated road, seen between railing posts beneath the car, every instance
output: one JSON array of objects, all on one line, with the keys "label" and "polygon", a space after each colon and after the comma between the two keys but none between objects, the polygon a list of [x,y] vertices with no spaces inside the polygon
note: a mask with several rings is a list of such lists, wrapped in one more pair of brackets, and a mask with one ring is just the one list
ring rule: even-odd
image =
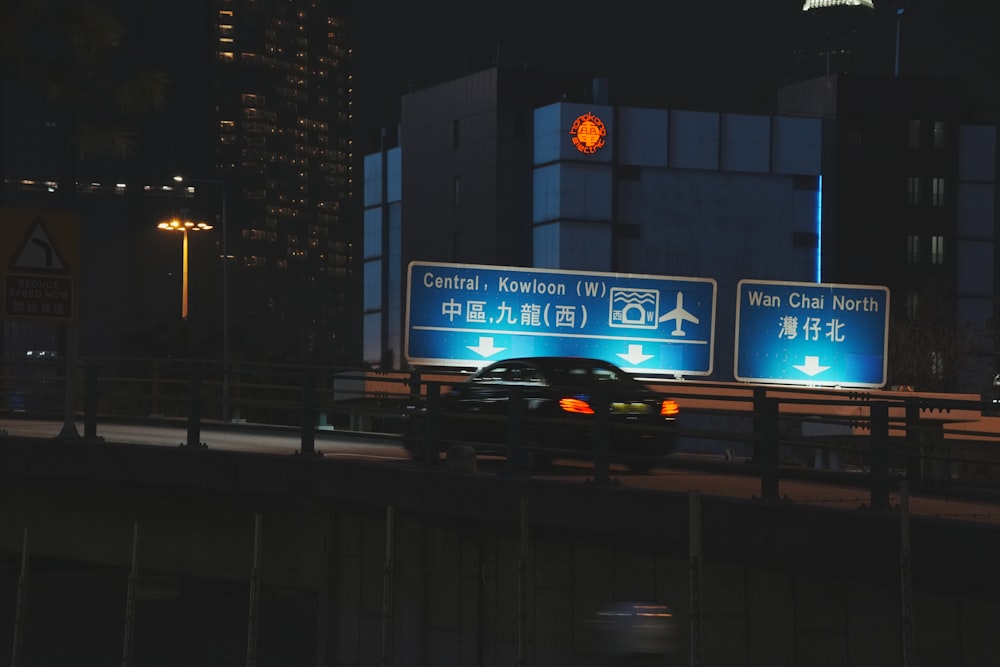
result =
[{"label": "asphalt surface of elevated road, seen between railing posts beneath the car", "polygon": [[[82,432],[82,425],[76,425]],[[72,443],[60,437],[65,424],[52,420],[0,419],[0,438],[25,437],[39,441]],[[275,456],[297,456],[302,452],[298,429],[254,424],[209,424],[203,427],[201,442],[208,450],[243,452]],[[102,424],[97,442],[114,445],[142,445],[185,448],[186,427],[180,421],[151,423]],[[86,442],[80,438],[79,444]],[[94,443],[91,443],[94,444]],[[399,438],[392,434],[358,433],[342,430],[319,430],[315,454],[323,459],[385,462],[417,467],[410,461]],[[445,455],[442,467],[468,469],[449,464]],[[504,476],[501,462],[479,457],[475,471],[482,475]],[[542,471],[524,473],[535,480],[558,483],[590,483],[593,470],[585,462],[561,460]],[[688,493],[735,500],[754,500],[762,496],[760,475],[746,461],[726,461],[719,456],[676,454],[648,474],[636,474],[623,467],[612,467],[611,484],[622,488]],[[871,504],[867,478],[862,472],[834,474],[819,470],[784,468],[779,475],[779,496],[784,502],[840,509],[866,509]],[[890,493],[890,505],[900,506],[901,485]],[[1000,524],[1000,491],[980,493],[927,492],[907,489],[909,512],[917,516]]]}]

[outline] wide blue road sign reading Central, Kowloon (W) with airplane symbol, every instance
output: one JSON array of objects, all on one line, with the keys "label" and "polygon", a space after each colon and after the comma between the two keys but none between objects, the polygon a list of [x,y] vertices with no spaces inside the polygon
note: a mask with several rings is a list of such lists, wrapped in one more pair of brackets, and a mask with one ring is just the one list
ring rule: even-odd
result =
[{"label": "wide blue road sign reading Central, Kowloon (W) with airplane symbol", "polygon": [[711,279],[412,262],[408,285],[414,365],[551,355],[644,374],[712,372]]}]

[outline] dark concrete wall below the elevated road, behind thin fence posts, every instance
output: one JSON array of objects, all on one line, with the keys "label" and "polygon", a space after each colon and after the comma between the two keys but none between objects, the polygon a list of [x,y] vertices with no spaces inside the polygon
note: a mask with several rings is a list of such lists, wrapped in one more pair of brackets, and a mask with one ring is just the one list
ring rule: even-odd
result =
[{"label": "dark concrete wall below the elevated road, behind thin fence posts", "polygon": [[0,656],[624,664],[601,655],[594,612],[648,600],[674,612],[676,650],[628,664],[891,667],[912,646],[914,664],[995,665],[996,527],[914,518],[907,605],[901,526],[898,511],[5,438]]}]

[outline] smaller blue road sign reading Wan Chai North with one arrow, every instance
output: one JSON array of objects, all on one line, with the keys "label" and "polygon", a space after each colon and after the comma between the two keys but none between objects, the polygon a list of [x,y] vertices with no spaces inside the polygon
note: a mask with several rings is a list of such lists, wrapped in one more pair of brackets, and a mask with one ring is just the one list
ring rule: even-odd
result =
[{"label": "smaller blue road sign reading Wan Chai North with one arrow", "polygon": [[885,384],[888,288],[741,280],[737,292],[737,380]]}]

